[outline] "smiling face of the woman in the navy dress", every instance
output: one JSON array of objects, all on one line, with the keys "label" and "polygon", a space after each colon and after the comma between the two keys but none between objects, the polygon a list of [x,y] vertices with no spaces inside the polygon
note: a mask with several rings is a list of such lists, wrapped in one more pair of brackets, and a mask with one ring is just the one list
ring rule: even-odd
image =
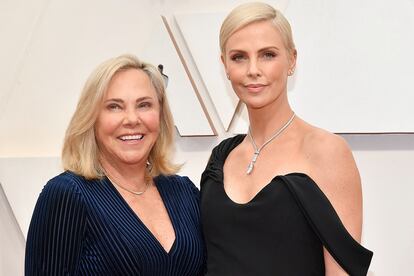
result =
[{"label": "smiling face of the woman in the navy dress", "polygon": [[145,166],[159,127],[160,104],[148,75],[137,69],[116,73],[95,124],[100,158],[118,166]]}]

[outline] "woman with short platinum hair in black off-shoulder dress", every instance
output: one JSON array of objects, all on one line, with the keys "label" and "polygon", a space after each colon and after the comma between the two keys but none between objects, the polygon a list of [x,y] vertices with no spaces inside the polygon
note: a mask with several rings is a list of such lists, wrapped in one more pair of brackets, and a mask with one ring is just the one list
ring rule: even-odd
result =
[{"label": "woman with short platinum hair in black off-shoulder dress", "polygon": [[365,275],[372,252],[359,244],[358,169],[341,137],[289,105],[288,21],[267,4],[241,5],[224,20],[220,47],[250,127],[213,150],[201,179],[207,275]]}]

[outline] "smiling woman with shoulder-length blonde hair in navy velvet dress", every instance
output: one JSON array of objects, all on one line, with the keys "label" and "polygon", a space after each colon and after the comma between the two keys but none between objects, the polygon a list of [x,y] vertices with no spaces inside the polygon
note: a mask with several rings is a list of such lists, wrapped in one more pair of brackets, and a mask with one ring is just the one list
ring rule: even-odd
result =
[{"label": "smiling woman with shoulder-length blonde hair in navy velvet dress", "polygon": [[198,190],[174,175],[162,76],[124,55],[87,81],[62,160],[36,204],[26,275],[197,275]]}]

